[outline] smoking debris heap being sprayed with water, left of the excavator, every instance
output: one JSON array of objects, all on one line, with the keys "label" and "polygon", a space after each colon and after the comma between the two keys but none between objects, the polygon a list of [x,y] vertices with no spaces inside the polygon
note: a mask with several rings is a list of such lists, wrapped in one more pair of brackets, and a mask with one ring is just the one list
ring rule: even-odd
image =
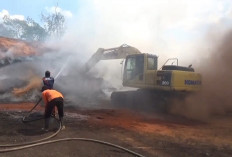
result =
[{"label": "smoking debris heap being sprayed with water, left of the excavator", "polygon": [[48,69],[56,76],[54,88],[69,95],[67,102],[76,104],[78,100],[82,104],[86,99],[104,95],[101,90],[106,85],[104,80],[84,73],[84,65],[72,60],[74,53],[3,37],[0,50],[1,101],[35,101],[40,95],[44,71]]}]

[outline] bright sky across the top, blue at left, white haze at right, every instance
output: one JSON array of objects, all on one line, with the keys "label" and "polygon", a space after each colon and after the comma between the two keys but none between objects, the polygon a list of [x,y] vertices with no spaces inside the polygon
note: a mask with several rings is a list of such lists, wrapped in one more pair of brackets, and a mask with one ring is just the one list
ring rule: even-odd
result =
[{"label": "bright sky across the top, blue at left, white haze at right", "polygon": [[66,17],[63,41],[70,49],[94,53],[128,44],[162,62],[169,57],[196,62],[196,51],[207,49],[207,34],[232,26],[231,0],[7,0],[0,2],[0,17],[29,16],[41,23],[41,12],[55,8]]}]

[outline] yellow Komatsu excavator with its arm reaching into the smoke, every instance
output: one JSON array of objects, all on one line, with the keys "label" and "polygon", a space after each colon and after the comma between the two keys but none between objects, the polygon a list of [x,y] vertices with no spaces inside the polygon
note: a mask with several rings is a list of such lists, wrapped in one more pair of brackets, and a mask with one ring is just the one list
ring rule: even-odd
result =
[{"label": "yellow Komatsu excavator with its arm reaching into the smoke", "polygon": [[[100,60],[120,58],[125,59],[123,86],[134,87],[138,90],[113,92],[111,100],[114,103],[127,103],[131,100],[135,103],[139,100],[160,99],[161,97],[166,99],[167,97],[182,96],[201,89],[201,74],[195,72],[191,67],[192,65],[188,67],[179,66],[177,58],[170,58],[158,69],[158,56],[141,53],[138,49],[126,44],[110,49],[99,48],[86,63],[85,69],[88,71]],[[167,63],[170,61],[172,61],[172,64],[168,65]],[[143,95],[143,99],[141,95]],[[146,96],[144,97],[144,95]]]}]

